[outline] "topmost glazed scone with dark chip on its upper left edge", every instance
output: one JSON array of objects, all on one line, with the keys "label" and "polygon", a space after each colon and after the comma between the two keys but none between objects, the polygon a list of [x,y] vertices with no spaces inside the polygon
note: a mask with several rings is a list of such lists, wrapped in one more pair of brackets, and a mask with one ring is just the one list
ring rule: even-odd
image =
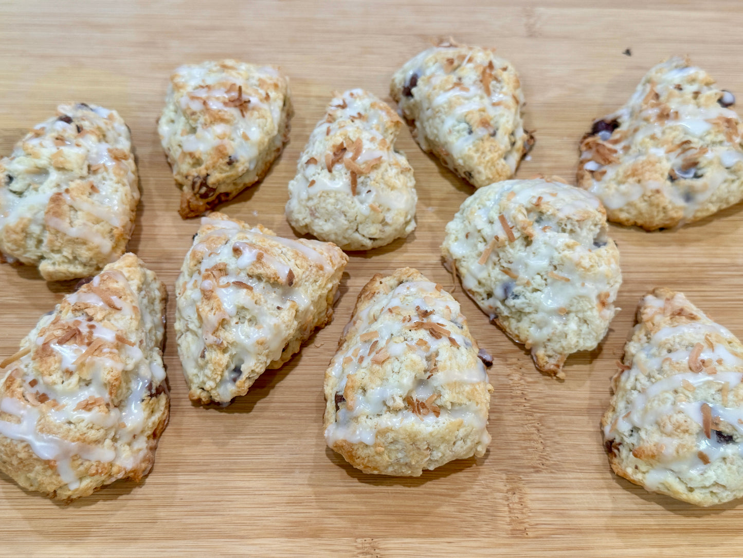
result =
[{"label": "topmost glazed scone with dark chip on its upper left edge", "polygon": [[475,187],[510,179],[533,144],[519,76],[493,49],[442,42],[406,62],[389,92],[421,149]]}]

